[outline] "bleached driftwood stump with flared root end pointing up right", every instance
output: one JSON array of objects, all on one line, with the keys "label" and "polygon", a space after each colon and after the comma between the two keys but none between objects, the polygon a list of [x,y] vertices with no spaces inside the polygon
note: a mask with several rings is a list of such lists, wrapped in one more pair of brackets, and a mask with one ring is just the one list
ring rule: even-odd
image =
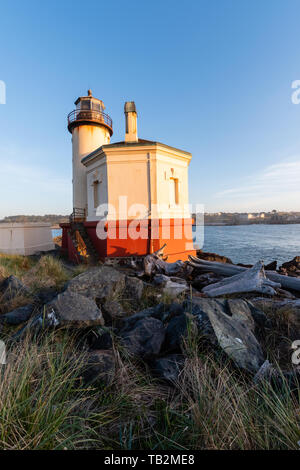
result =
[{"label": "bleached driftwood stump with flared root end pointing up right", "polygon": [[242,273],[204,287],[202,292],[209,297],[242,292],[260,292],[262,294],[275,295],[275,289],[280,286],[281,284],[266,278],[264,265],[262,261],[258,261],[252,268]]}]

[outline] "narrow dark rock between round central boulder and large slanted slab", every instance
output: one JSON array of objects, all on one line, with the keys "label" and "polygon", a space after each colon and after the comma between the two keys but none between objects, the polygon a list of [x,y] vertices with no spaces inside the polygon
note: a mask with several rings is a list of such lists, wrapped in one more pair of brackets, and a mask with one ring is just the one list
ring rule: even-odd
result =
[{"label": "narrow dark rock between round central boulder and large slanted slab", "polygon": [[164,350],[168,352],[181,351],[182,342],[188,336],[189,326],[196,332],[194,317],[189,313],[172,318],[166,329]]}]

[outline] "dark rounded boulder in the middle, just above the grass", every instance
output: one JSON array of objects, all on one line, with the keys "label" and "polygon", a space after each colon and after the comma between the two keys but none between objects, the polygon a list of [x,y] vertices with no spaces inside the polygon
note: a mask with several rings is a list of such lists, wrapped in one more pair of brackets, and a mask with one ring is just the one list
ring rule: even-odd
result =
[{"label": "dark rounded boulder in the middle, just above the grass", "polygon": [[163,323],[156,318],[138,320],[130,330],[121,330],[122,344],[134,356],[151,359],[160,353],[165,339]]}]

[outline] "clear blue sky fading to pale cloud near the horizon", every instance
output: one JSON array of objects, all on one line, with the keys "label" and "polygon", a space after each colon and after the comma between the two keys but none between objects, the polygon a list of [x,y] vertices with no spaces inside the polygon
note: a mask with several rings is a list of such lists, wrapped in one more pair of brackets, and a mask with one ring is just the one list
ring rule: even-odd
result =
[{"label": "clear blue sky fading to pale cloud near the horizon", "polygon": [[88,88],[124,139],[192,152],[206,211],[300,211],[299,0],[0,2],[0,217],[70,213],[66,116]]}]

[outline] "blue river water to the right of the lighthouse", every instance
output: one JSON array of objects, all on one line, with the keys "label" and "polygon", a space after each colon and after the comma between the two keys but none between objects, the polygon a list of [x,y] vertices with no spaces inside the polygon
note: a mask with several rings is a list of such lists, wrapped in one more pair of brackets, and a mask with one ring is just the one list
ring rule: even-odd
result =
[{"label": "blue river water to the right of the lighthouse", "polygon": [[[61,229],[52,234],[61,235]],[[200,245],[202,234],[203,228],[197,227],[194,237]],[[203,250],[228,256],[234,263],[283,263],[300,256],[300,224],[205,226]]]}]

